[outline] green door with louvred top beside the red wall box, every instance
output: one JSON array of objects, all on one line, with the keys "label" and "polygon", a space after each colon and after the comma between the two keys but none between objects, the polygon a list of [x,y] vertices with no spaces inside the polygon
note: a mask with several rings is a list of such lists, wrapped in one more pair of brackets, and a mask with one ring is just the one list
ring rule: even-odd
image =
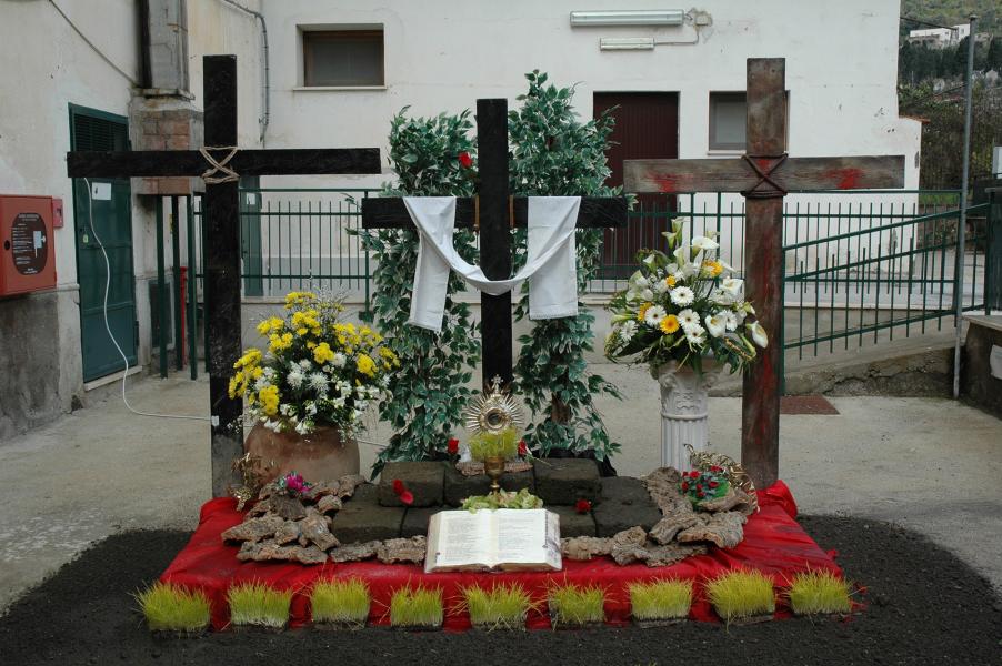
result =
[{"label": "green door with louvred top beside the red wall box", "polygon": [[[70,145],[79,151],[129,150],[124,118],[70,105]],[[129,179],[73,180],[77,282],[80,284],[80,339],[83,381],[124,370],[104,325],[134,365],[136,281],[132,269],[132,191]],[[100,239],[100,243],[98,240]],[[104,252],[108,254],[106,269]]]}]

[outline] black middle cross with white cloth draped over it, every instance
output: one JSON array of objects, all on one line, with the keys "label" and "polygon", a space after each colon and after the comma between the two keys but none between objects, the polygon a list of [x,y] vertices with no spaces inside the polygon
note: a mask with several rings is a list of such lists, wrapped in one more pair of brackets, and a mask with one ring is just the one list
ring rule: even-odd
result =
[{"label": "black middle cross with white cloth draped over it", "polygon": [[[480,231],[480,268],[490,280],[511,276],[511,228],[525,226],[528,200],[510,196],[508,190],[508,100],[477,100],[477,152],[480,167],[478,196],[455,202],[455,225]],[[479,220],[477,219],[479,212]],[[578,212],[579,229],[625,226],[627,200],[622,196],[583,196]],[[362,201],[364,229],[414,229],[399,198]],[[482,379],[502,385],[512,380],[511,292],[481,294]]]}]

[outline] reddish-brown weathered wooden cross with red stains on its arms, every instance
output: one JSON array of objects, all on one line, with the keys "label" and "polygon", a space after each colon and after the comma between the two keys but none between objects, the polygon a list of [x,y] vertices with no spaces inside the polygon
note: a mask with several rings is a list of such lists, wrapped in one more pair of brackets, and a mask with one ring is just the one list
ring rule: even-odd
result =
[{"label": "reddish-brown weathered wooden cross with red stains on its arms", "polygon": [[770,344],[744,375],[741,462],[758,487],[779,474],[783,354],[783,195],[790,190],[902,188],[904,158],[786,158],[785,59],[748,60],[742,159],[625,160],[628,192],[740,192],[745,201],[745,294]]}]

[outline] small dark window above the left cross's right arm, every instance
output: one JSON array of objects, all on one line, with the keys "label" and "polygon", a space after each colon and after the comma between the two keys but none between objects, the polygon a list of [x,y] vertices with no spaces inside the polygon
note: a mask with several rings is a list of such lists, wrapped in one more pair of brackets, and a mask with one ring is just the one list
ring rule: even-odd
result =
[{"label": "small dark window above the left cross's right arm", "polygon": [[383,85],[382,28],[304,30],[303,84]]}]

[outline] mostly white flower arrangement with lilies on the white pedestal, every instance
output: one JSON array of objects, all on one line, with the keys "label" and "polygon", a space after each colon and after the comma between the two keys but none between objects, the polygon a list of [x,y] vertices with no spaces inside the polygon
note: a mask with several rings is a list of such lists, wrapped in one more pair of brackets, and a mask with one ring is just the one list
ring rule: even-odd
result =
[{"label": "mostly white flower arrangement with lilies on the white pedestal", "polygon": [[755,346],[769,344],[765,330],[744,300],[744,281],[713,255],[711,235],[683,239],[683,220],[664,232],[668,253],[641,250],[640,270],[609,304],[612,331],[605,356],[649,363],[675,361],[702,372],[702,360],[715,357],[732,370],[754,360]]}]

